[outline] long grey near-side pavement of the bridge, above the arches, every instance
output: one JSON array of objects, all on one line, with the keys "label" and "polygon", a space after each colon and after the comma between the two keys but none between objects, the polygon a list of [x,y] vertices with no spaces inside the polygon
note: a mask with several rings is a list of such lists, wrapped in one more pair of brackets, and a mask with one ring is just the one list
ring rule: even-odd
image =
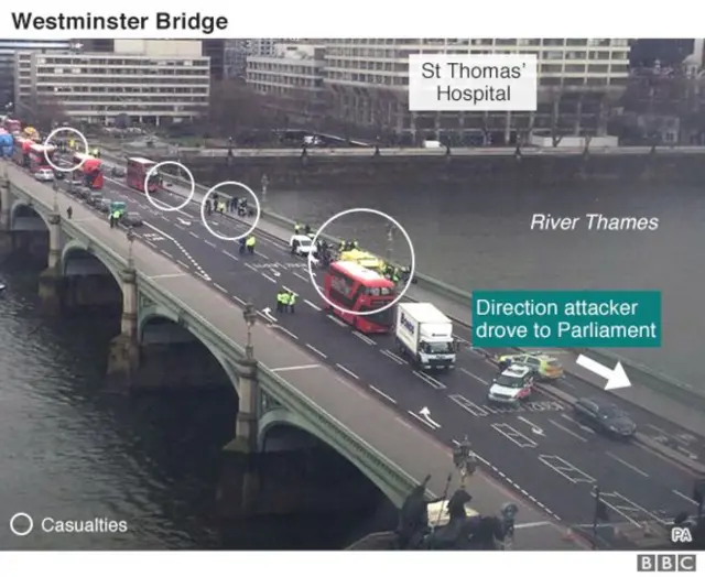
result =
[{"label": "long grey near-side pavement of the bridge, above the arches", "polygon": [[[39,203],[45,207],[52,206],[54,194],[50,187],[34,182],[14,166],[9,166],[9,175],[15,185],[30,192]],[[62,214],[65,214],[69,205],[74,208],[74,224],[80,224],[86,233],[127,260],[128,241],[123,231],[110,229],[105,219],[59,195],[58,207]],[[205,318],[234,342],[245,342],[245,320],[241,309],[234,301],[195,276],[186,274],[177,264],[149,247],[135,242],[133,249],[138,270],[151,277],[165,293],[188,303],[194,314]],[[319,362],[318,358],[292,344],[273,327],[256,326],[253,342],[260,362],[270,369],[316,366]],[[398,417],[377,399],[366,394],[326,366],[291,370],[282,372],[281,375],[323,411],[397,462],[411,477],[421,479],[426,473],[433,475],[431,490],[436,496],[443,493],[445,479],[452,468],[452,455],[447,446]],[[468,489],[477,503],[476,509],[488,514],[496,513],[509,500],[520,501],[519,523],[525,527],[518,534],[517,548],[555,549],[583,546],[582,543],[565,541],[562,527],[552,518],[490,477],[481,472],[474,476],[468,482]]]}]

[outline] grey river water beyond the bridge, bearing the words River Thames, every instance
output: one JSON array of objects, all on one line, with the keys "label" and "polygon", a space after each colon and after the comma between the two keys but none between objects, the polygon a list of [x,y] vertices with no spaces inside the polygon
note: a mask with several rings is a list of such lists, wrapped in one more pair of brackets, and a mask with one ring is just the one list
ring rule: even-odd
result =
[{"label": "grey river water beyond the bridge, bearing the words River Thames", "polygon": [[[420,271],[473,290],[659,290],[663,295],[660,349],[618,352],[697,388],[702,382],[701,330],[705,309],[705,190],[702,187],[609,183],[538,189],[312,190],[272,189],[275,213],[322,225],[341,210],[376,208],[409,232]],[[574,231],[530,230],[534,213],[577,217]],[[655,231],[586,229],[586,214],[658,217]],[[384,253],[383,219],[355,214],[330,225]],[[406,251],[403,242],[394,241]],[[405,255],[399,254],[400,258]]]}]

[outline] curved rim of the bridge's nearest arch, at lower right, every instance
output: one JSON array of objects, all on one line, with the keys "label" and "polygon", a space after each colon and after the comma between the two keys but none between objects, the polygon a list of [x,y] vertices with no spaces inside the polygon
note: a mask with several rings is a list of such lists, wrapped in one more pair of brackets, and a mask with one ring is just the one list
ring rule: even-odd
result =
[{"label": "curved rim of the bridge's nearest arch, at lower right", "polygon": [[326,438],[323,432],[306,418],[289,411],[285,407],[276,407],[260,416],[258,429],[258,449],[264,450],[267,435],[279,426],[293,427],[308,433],[317,440],[336,450],[338,455],[357,468],[369,481],[371,481],[392,503],[400,504],[399,494],[384,478],[377,475],[360,455],[350,455],[336,443],[335,438]]}]

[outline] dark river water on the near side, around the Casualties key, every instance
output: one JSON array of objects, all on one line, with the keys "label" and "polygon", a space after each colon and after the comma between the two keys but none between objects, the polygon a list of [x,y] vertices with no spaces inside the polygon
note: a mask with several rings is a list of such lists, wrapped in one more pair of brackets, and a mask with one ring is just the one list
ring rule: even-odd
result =
[{"label": "dark river water on the near side, around the Casualties key", "polygon": [[[215,501],[232,394],[124,398],[102,388],[117,319],[52,320],[36,273],[0,294],[0,549],[340,548],[390,511],[360,519],[223,524]],[[35,529],[11,534],[25,512]],[[124,533],[44,533],[41,519],[126,521]],[[20,523],[18,529],[26,527]]]}]

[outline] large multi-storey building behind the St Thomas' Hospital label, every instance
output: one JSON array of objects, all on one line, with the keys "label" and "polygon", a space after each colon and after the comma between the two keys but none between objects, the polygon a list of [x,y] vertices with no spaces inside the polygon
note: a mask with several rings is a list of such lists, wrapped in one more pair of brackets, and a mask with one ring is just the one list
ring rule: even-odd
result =
[{"label": "large multi-storey building behind the St Thomas' Hospital label", "polygon": [[[604,134],[629,75],[627,39],[326,39],[326,86],[338,117],[402,140],[494,143],[518,133]],[[411,54],[535,54],[535,112],[410,112]]]}]

